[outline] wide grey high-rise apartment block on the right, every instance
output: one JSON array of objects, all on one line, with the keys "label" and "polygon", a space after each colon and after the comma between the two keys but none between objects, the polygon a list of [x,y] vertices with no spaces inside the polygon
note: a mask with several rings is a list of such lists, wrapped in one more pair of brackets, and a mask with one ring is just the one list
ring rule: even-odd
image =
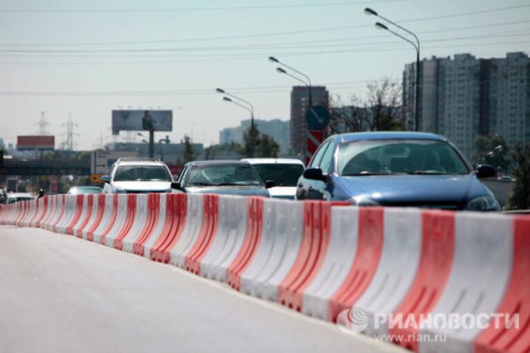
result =
[{"label": "wide grey high-rise apartment block on the right", "polygon": [[[403,107],[414,119],[415,63],[405,65]],[[510,147],[530,143],[530,60],[521,52],[502,59],[457,54],[420,63],[419,130],[442,134],[464,154],[478,134],[499,134]]]}]

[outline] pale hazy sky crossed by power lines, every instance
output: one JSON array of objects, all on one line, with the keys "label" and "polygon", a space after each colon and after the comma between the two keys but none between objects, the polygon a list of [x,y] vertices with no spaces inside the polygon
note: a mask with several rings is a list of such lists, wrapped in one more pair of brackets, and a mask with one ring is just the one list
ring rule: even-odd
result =
[{"label": "pale hazy sky crossed by power lines", "polygon": [[218,143],[248,112],[217,87],[251,101],[256,119],[289,119],[297,81],[271,55],[333,97],[362,96],[415,60],[365,7],[415,32],[422,58],[530,52],[527,0],[0,0],[0,138],[36,134],[44,112],[56,148],[72,117],[75,149],[91,150],[126,141],[112,137],[112,110],[168,109],[173,142]]}]

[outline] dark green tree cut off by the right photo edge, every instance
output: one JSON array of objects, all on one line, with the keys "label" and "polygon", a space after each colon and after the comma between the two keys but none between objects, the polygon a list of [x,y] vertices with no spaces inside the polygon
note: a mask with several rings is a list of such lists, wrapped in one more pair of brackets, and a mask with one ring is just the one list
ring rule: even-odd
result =
[{"label": "dark green tree cut off by the right photo edge", "polygon": [[528,210],[530,208],[530,148],[517,145],[511,153],[515,163],[512,175],[516,178],[508,200],[511,210]]}]

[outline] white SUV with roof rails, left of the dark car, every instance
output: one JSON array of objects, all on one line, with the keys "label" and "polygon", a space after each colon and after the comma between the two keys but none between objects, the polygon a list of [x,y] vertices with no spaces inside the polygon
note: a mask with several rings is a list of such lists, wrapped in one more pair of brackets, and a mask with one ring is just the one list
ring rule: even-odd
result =
[{"label": "white SUV with roof rails, left of the dark car", "polygon": [[121,158],[109,175],[101,176],[106,194],[171,192],[173,177],[166,163],[157,159]]}]

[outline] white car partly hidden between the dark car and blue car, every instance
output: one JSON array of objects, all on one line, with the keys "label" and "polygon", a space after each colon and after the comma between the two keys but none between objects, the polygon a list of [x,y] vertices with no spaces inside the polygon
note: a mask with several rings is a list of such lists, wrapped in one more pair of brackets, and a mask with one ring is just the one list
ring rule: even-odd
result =
[{"label": "white car partly hidden between the dark car and blue car", "polygon": [[273,180],[274,188],[268,189],[271,197],[279,199],[295,199],[298,178],[304,172],[304,163],[291,158],[247,158],[263,181]]}]

